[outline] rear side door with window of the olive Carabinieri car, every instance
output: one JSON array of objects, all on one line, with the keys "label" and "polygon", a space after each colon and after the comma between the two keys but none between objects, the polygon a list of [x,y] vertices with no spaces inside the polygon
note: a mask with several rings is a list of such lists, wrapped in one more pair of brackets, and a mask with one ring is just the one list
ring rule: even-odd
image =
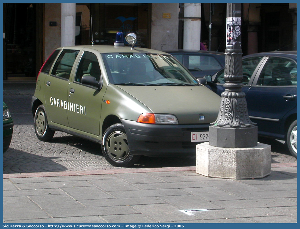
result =
[{"label": "rear side door with window of the olive Carabinieri car", "polygon": [[45,79],[44,96],[48,120],[69,126],[67,120],[67,88],[79,50],[63,49],[51,74]]}]

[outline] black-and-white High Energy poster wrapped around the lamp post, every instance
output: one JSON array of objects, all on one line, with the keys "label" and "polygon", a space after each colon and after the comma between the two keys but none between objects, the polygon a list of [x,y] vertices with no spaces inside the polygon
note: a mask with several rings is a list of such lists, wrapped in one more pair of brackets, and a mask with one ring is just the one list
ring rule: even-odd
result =
[{"label": "black-and-white High Energy poster wrapped around the lamp post", "polygon": [[226,48],[241,49],[241,18],[227,17]]}]

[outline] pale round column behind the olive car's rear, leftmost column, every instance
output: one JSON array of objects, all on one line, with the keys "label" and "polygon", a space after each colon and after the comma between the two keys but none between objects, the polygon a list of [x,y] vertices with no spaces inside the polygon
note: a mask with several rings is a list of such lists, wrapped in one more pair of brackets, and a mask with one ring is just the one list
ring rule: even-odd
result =
[{"label": "pale round column behind the olive car's rear, leftmost column", "polygon": [[75,45],[76,3],[61,3],[61,46]]}]

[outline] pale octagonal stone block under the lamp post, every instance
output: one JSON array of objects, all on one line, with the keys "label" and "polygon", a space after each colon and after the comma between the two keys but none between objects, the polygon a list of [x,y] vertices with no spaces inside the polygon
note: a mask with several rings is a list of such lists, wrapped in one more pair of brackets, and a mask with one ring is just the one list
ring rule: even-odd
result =
[{"label": "pale octagonal stone block under the lamp post", "polygon": [[271,173],[271,146],[222,148],[204,142],[197,145],[196,172],[206,177],[262,178]]}]

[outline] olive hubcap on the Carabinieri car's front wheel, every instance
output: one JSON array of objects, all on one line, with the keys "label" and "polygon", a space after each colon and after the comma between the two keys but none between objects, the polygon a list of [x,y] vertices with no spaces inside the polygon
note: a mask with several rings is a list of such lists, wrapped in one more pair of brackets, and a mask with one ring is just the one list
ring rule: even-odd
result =
[{"label": "olive hubcap on the Carabinieri car's front wheel", "polygon": [[123,132],[115,131],[107,138],[107,153],[116,161],[123,161],[129,155],[127,136]]}]

